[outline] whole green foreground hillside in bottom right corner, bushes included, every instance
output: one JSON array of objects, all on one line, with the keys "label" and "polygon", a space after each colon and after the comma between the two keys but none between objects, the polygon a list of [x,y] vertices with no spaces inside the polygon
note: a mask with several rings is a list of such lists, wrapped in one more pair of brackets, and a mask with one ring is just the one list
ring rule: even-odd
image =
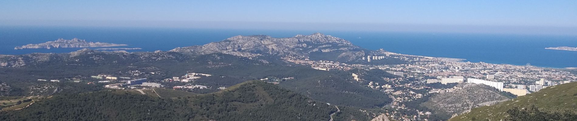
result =
[{"label": "whole green foreground hillside in bottom right corner, bushes included", "polygon": [[473,108],[458,120],[577,120],[577,83],[543,88],[493,106]]}]

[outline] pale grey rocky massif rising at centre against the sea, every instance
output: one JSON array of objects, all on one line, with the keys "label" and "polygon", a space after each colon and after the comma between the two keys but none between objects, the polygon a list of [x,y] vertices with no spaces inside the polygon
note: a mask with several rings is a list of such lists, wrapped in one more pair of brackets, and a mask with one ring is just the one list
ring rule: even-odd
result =
[{"label": "pale grey rocky massif rising at centre against the sea", "polygon": [[325,36],[321,33],[297,35],[287,38],[273,38],[265,35],[234,36],[219,42],[203,46],[175,48],[171,52],[185,54],[226,53],[235,56],[254,57],[273,56],[310,56],[311,53],[329,54],[333,60],[353,61],[364,56],[364,49],[342,38]]}]

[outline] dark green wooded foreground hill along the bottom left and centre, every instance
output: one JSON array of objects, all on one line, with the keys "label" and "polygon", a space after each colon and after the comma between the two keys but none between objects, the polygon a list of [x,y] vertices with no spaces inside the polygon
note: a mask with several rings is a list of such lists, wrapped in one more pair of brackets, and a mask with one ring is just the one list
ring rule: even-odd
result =
[{"label": "dark green wooded foreground hill along the bottom left and centre", "polygon": [[[330,120],[336,111],[276,85],[247,81],[220,92],[173,99],[121,90],[55,95],[22,110],[0,112],[0,120]],[[372,117],[346,111],[335,118]]]}]

